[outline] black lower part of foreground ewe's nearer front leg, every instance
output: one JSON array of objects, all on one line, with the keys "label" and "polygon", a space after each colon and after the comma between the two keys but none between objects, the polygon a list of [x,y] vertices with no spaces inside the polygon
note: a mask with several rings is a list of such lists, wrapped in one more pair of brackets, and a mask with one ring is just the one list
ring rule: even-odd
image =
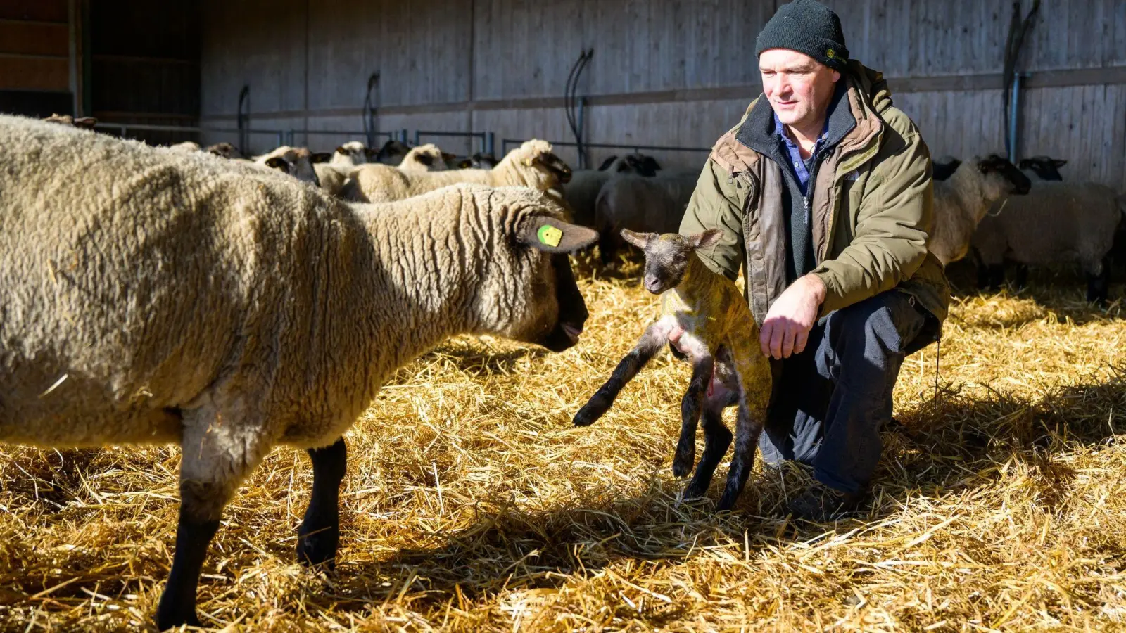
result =
[{"label": "black lower part of foreground ewe's nearer front leg", "polygon": [[213,515],[214,498],[218,496],[223,492],[215,487],[195,481],[180,482],[180,520],[176,528],[172,571],[157,606],[157,628],[160,631],[181,624],[199,626],[196,587],[207,545],[218,531],[218,517],[208,518]]}]

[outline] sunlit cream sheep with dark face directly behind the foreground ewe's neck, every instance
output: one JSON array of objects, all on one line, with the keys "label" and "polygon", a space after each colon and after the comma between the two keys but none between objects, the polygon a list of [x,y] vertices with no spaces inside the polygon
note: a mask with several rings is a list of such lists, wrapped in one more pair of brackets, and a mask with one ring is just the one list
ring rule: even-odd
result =
[{"label": "sunlit cream sheep with dark face directly behind the foreground ewe's neck", "polygon": [[352,202],[393,202],[434,191],[454,182],[521,186],[546,191],[570,179],[571,168],[552,153],[551,144],[531,140],[509,152],[492,169],[405,173],[384,164],[364,164],[348,179],[341,196]]}]

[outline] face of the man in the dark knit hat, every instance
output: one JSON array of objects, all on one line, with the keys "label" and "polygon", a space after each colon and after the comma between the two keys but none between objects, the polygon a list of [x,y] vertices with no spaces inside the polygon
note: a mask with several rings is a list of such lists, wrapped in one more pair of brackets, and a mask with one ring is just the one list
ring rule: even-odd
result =
[{"label": "face of the man in the dark knit hat", "polygon": [[788,48],[769,48],[759,55],[762,92],[778,119],[797,128],[824,119],[841,73],[813,57]]}]

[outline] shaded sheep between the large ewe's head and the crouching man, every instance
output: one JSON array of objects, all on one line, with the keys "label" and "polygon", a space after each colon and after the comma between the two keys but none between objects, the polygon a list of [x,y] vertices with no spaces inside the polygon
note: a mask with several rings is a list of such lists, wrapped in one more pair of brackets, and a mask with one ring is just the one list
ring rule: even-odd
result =
[{"label": "shaded sheep between the large ewe's head and the crouching man", "polygon": [[699,172],[662,171],[653,178],[623,175],[602,186],[595,202],[595,230],[604,264],[617,257],[625,243],[622,229],[643,233],[676,233]]}]

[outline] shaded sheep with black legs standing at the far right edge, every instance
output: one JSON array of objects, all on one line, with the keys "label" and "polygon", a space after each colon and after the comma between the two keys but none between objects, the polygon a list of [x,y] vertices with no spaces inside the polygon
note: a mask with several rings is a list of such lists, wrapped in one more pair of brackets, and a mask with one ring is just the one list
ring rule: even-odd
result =
[{"label": "shaded sheep with black legs standing at the far right edge", "polygon": [[[1087,301],[1105,303],[1108,257],[1126,213],[1126,198],[1096,182],[1033,182],[1027,196],[1011,196],[973,235],[980,285],[1004,282],[1006,261],[1021,265],[1078,262],[1087,274]],[[1018,285],[1024,285],[1021,269]]]}]

